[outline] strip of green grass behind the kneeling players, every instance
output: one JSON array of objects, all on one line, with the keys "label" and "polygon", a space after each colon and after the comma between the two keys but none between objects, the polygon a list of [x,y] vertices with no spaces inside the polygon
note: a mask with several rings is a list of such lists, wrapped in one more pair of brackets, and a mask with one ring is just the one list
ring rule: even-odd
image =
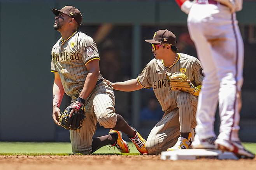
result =
[{"label": "strip of green grass behind the kneeling players", "polygon": [[[245,148],[256,154],[256,143],[243,143]],[[129,143],[130,153],[120,153],[116,148],[103,146],[97,155],[140,155]],[[0,155],[72,155],[70,143],[0,142]]]}]

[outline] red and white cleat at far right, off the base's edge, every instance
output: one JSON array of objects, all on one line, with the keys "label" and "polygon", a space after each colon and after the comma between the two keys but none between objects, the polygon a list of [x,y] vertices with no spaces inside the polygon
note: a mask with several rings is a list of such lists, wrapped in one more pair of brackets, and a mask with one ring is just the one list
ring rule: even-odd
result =
[{"label": "red and white cleat at far right, off the base's edge", "polygon": [[255,155],[246,150],[240,141],[227,141],[224,139],[216,139],[215,144],[221,151],[233,152],[238,158],[251,158]]}]

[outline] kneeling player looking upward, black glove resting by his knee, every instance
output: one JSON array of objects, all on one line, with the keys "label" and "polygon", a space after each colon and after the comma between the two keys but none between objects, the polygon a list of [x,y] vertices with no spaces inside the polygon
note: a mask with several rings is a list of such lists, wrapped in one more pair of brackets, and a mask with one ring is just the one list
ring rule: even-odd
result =
[{"label": "kneeling player looking upward, black glove resting by his knee", "polygon": [[[93,153],[107,144],[116,146],[122,153],[129,153],[130,149],[122,139],[121,131],[127,134],[140,153],[146,153],[146,141],[121,115],[115,113],[114,92],[102,82],[100,57],[95,41],[77,31],[82,22],[81,13],[72,6],[52,11],[56,15],[53,27],[61,33],[61,38],[52,49],[53,120],[60,125],[59,106],[64,93],[72,98],[72,103],[85,105],[86,108],[82,128],[70,131],[73,153]],[[75,108],[70,116],[74,112]],[[97,121],[103,127],[111,129],[108,135],[93,137]]]}]

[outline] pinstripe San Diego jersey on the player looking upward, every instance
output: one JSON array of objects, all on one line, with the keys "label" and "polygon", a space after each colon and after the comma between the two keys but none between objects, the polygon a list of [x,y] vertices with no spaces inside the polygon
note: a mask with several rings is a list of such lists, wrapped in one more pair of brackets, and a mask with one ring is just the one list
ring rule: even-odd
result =
[{"label": "pinstripe San Diego jersey on the player looking upward", "polygon": [[[88,75],[86,64],[100,59],[95,41],[78,31],[65,41],[60,38],[53,46],[51,54],[51,72],[59,73],[65,93],[76,99]],[[101,75],[98,77],[100,79]]]}]

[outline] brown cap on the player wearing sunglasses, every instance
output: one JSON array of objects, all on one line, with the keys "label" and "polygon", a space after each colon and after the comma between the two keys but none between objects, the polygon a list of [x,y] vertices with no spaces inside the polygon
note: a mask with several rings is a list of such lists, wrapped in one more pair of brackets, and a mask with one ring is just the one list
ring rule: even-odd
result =
[{"label": "brown cap on the player wearing sunglasses", "polygon": [[165,30],[158,30],[155,32],[153,39],[145,39],[146,42],[152,44],[176,44],[176,36],[171,31]]}]

